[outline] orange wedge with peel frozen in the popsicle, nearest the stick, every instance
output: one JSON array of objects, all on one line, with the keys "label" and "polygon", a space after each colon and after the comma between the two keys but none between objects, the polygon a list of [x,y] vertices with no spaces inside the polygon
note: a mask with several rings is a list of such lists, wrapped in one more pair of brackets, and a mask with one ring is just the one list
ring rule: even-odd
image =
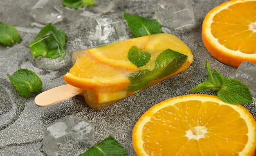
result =
[{"label": "orange wedge with peel frozen in the popsicle, nearest the stick", "polygon": [[64,76],[68,84],[85,90],[120,91],[130,83],[127,71],[98,62],[83,54],[76,60],[70,72]]}]

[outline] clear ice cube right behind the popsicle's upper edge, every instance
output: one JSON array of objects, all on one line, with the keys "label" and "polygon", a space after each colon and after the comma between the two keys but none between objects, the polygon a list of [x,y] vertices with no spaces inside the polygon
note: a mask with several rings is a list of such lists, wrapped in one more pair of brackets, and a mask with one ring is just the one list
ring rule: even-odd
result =
[{"label": "clear ice cube right behind the popsicle's upper edge", "polygon": [[91,17],[91,37],[101,44],[117,42],[128,38],[124,22],[114,13],[97,13]]}]

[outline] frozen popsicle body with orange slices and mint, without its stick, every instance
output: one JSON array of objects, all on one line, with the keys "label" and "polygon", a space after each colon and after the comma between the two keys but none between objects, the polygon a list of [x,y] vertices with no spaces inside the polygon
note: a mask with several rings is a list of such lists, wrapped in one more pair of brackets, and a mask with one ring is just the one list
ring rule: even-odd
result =
[{"label": "frozen popsicle body with orange slices and mint, without its stick", "polygon": [[64,81],[101,110],[184,71],[193,55],[176,36],[159,33],[75,51],[72,61]]}]

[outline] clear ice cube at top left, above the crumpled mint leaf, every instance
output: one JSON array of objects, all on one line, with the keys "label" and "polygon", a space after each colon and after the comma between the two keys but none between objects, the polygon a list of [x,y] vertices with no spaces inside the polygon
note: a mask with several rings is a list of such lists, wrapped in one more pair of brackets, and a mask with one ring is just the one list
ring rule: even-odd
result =
[{"label": "clear ice cube at top left, above the crumpled mint leaf", "polygon": [[48,24],[62,21],[63,11],[58,4],[54,4],[54,0],[38,0],[31,8],[30,15],[34,18],[35,22]]}]

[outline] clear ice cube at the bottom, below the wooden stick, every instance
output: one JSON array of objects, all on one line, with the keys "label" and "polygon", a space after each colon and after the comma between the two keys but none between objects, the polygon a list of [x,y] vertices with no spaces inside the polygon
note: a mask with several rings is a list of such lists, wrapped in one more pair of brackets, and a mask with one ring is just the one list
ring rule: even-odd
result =
[{"label": "clear ice cube at the bottom, below the wooden stick", "polygon": [[74,156],[94,143],[94,125],[69,115],[50,124],[43,136],[43,149],[49,156]]}]

